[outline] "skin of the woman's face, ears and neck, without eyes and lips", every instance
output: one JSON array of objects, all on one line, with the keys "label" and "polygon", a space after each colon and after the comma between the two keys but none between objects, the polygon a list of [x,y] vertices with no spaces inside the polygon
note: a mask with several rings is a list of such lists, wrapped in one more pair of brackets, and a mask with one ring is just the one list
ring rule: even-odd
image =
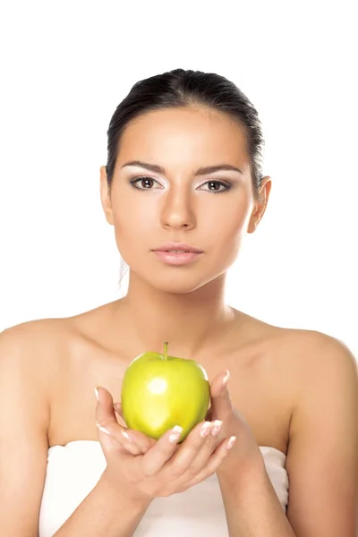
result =
[{"label": "skin of the woman's face, ears and neck, without eyes and lips", "polygon": [[[224,301],[226,270],[265,211],[265,203],[254,200],[245,148],[243,129],[226,117],[166,110],[141,116],[127,127],[110,194],[105,167],[101,168],[103,209],[115,227],[118,250],[131,267],[129,292],[117,314],[137,320],[125,329],[143,348],[161,351],[167,340],[171,354],[190,358],[211,346],[236,320],[237,313]],[[122,168],[138,155],[163,166],[166,176],[138,166]],[[243,175],[210,175],[212,180],[233,182],[229,192],[214,194],[204,185],[207,176],[192,175],[200,166],[219,163],[237,166]],[[156,180],[150,192],[128,184],[140,175]],[[265,177],[260,194],[266,203],[270,187]],[[168,267],[151,250],[169,241],[190,243],[204,253],[191,266]]]}]

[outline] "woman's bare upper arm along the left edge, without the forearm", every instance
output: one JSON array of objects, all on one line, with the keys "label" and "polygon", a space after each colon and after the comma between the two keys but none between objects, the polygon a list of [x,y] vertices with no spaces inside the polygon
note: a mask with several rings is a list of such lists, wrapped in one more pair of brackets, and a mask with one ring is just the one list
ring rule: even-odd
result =
[{"label": "woman's bare upper arm along the left edge, without the forearm", "polygon": [[0,535],[12,537],[37,537],[47,468],[48,407],[25,333],[0,334]]}]

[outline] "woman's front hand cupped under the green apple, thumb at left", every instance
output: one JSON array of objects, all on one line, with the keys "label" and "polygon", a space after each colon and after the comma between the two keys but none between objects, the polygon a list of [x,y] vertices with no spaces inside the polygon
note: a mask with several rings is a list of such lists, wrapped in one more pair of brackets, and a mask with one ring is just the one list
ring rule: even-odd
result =
[{"label": "woman's front hand cupped under the green apple, thumb at left", "polygon": [[96,421],[107,460],[102,477],[134,501],[167,497],[204,481],[217,472],[235,439],[218,442],[217,422],[200,422],[181,444],[176,428],[167,430],[158,441],[149,439],[117,422],[113,398],[105,388],[98,388]]}]

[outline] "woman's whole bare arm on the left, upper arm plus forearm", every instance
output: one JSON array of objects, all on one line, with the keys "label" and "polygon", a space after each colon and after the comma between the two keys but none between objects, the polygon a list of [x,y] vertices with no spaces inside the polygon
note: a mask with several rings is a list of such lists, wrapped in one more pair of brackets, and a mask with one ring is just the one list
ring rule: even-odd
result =
[{"label": "woman's whole bare arm on the left, upper arm plus forearm", "polygon": [[[38,537],[47,472],[47,390],[54,386],[51,371],[55,371],[51,326],[31,321],[0,334],[0,535],[4,536]],[[55,535],[129,537],[146,508],[119,498],[104,474]]]}]

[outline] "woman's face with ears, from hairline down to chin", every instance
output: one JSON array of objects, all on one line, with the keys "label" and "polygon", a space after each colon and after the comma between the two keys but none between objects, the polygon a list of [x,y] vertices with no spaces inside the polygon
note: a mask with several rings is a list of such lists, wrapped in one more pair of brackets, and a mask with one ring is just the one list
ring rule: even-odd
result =
[{"label": "woman's face with ears, from hairline down to chin", "polygon": [[[126,166],[132,161],[162,171]],[[241,172],[197,175],[200,168],[224,164]],[[131,183],[140,177],[145,178]],[[110,197],[106,168],[101,168],[101,197],[131,272],[174,293],[192,291],[225,273],[264,211],[254,198],[243,130],[226,115],[201,108],[158,110],[133,120],[121,140]],[[183,266],[168,265],[153,250],[171,242],[202,253]]]}]

